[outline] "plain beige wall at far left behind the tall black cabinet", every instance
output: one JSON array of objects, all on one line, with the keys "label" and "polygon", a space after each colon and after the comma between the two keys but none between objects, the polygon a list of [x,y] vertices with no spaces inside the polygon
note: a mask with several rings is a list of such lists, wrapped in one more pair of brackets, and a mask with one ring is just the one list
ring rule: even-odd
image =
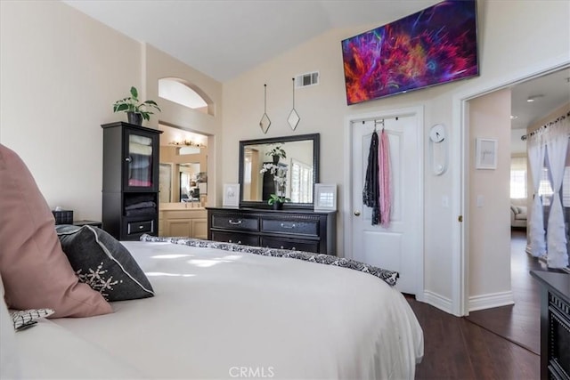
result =
[{"label": "plain beige wall at far left behind the tall black cabinet", "polygon": [[50,206],[101,220],[102,128],[142,86],[142,47],[67,4],[0,2],[0,142]]}]

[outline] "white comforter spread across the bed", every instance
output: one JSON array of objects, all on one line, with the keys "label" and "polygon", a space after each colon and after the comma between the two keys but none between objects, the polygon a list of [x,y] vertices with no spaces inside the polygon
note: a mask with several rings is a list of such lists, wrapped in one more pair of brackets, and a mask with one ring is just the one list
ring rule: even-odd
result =
[{"label": "white comforter spread across the bed", "polygon": [[19,333],[24,352],[34,335],[52,341],[45,357],[24,353],[25,378],[399,379],[413,378],[423,356],[403,295],[370,274],[171,243],[124,245],[156,295]]}]

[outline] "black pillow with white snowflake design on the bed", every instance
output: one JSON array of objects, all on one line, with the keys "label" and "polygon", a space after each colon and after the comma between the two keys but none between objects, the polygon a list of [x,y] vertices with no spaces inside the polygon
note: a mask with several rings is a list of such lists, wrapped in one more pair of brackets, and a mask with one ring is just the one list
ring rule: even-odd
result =
[{"label": "black pillow with white snowflake design on the bed", "polygon": [[149,279],[130,252],[104,230],[67,224],[56,225],[55,230],[79,281],[93,287],[107,301],[154,295]]}]

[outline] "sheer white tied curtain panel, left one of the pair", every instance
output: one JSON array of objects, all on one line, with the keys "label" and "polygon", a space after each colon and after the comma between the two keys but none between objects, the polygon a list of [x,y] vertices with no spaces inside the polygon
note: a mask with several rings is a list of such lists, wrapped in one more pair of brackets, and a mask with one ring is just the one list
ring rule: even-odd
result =
[{"label": "sheer white tied curtain panel, left one of the pair", "polygon": [[544,165],[544,152],[546,146],[542,133],[534,133],[528,138],[528,162],[533,178],[533,205],[528,218],[531,254],[534,257],[546,255],[546,241],[544,239],[544,217],[542,214],[542,200],[538,195],[541,186],[542,166]]}]

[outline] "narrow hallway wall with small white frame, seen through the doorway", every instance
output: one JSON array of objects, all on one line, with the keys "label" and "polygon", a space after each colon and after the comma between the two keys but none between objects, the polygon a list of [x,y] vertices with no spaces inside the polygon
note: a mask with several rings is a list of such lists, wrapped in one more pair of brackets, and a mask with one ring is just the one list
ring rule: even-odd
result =
[{"label": "narrow hallway wall with small white frame, seen through the doorway", "polygon": [[[510,293],[510,90],[469,101],[469,300],[512,303]],[[476,169],[476,138],[494,139],[497,168]],[[481,302],[480,297],[491,297]],[[494,295],[494,296],[493,296]]]}]

